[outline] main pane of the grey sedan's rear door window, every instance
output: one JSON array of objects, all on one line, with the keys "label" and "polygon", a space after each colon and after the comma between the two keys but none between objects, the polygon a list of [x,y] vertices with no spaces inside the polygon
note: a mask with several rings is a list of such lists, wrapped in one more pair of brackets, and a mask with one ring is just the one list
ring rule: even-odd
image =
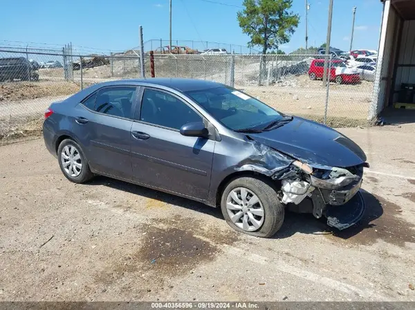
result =
[{"label": "main pane of the grey sedan's rear door window", "polygon": [[95,112],[132,119],[131,106],[136,87],[104,88],[95,100]]}]

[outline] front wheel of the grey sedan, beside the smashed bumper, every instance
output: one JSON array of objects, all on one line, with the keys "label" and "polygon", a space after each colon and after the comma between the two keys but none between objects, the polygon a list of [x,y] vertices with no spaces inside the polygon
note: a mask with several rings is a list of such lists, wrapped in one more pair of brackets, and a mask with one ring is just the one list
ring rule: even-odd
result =
[{"label": "front wheel of the grey sedan, beside the smashed bumper", "polygon": [[[243,188],[247,193],[245,197],[248,204],[249,201],[254,198],[254,195],[257,196],[258,202],[251,206],[245,206],[245,208],[238,204],[237,200],[234,200],[233,197],[237,194],[237,199],[243,204],[241,201]],[[241,195],[238,195],[238,193]],[[248,197],[250,200],[247,199]],[[230,203],[230,206],[228,206],[228,203]],[[236,209],[233,209],[235,207]],[[237,207],[239,207],[239,209]],[[260,219],[259,214],[261,213],[261,210],[263,215]],[[268,182],[268,180],[259,180],[255,177],[239,177],[232,180],[223,191],[221,197],[221,211],[226,222],[228,222],[233,229],[261,238],[270,238],[277,233],[284,222],[285,212],[284,206],[279,202],[277,192],[272,184]],[[234,220],[231,219],[232,215],[236,215],[233,217]],[[254,221],[251,220],[252,217],[254,217]],[[239,220],[235,220],[236,218]],[[249,226],[248,229],[246,229],[247,226],[243,229],[243,220],[245,218],[246,225]],[[257,226],[252,224],[254,222],[257,223]]]}]

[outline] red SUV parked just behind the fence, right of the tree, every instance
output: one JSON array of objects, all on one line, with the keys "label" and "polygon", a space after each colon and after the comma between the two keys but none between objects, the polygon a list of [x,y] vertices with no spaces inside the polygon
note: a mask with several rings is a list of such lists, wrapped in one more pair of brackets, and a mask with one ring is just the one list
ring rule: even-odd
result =
[{"label": "red SUV parked just behind the fence, right of the tree", "polygon": [[[347,68],[342,60],[332,60],[330,66],[330,81],[338,84],[357,84],[360,82],[360,74],[355,68]],[[324,74],[324,59],[313,59],[308,77],[310,79],[322,79]]]}]

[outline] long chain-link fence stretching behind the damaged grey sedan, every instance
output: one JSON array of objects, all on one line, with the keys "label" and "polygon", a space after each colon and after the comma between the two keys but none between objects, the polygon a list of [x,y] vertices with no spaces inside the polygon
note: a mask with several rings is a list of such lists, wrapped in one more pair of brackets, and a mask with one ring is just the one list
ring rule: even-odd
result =
[{"label": "long chain-link fence stretching behind the damaged grey sedan", "polygon": [[[53,101],[91,84],[140,77],[134,50],[81,56],[68,51],[0,49],[0,141],[39,133],[43,112]],[[149,78],[148,54],[144,60]],[[329,84],[322,81],[324,62]],[[369,68],[352,68],[322,55],[154,54],[155,77],[216,81],[284,113],[333,127],[367,124],[373,75]]]}]

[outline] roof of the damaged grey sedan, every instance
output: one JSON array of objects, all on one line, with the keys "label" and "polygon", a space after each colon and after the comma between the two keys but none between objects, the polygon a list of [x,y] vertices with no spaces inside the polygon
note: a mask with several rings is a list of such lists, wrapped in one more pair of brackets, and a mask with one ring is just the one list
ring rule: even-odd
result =
[{"label": "roof of the damaged grey sedan", "polygon": [[182,79],[169,77],[153,77],[149,79],[122,79],[118,81],[107,81],[101,86],[118,86],[118,85],[135,85],[135,86],[164,86],[178,90],[181,93],[192,90],[203,90],[208,88],[217,88],[224,86],[214,81],[205,81],[203,79]]}]

